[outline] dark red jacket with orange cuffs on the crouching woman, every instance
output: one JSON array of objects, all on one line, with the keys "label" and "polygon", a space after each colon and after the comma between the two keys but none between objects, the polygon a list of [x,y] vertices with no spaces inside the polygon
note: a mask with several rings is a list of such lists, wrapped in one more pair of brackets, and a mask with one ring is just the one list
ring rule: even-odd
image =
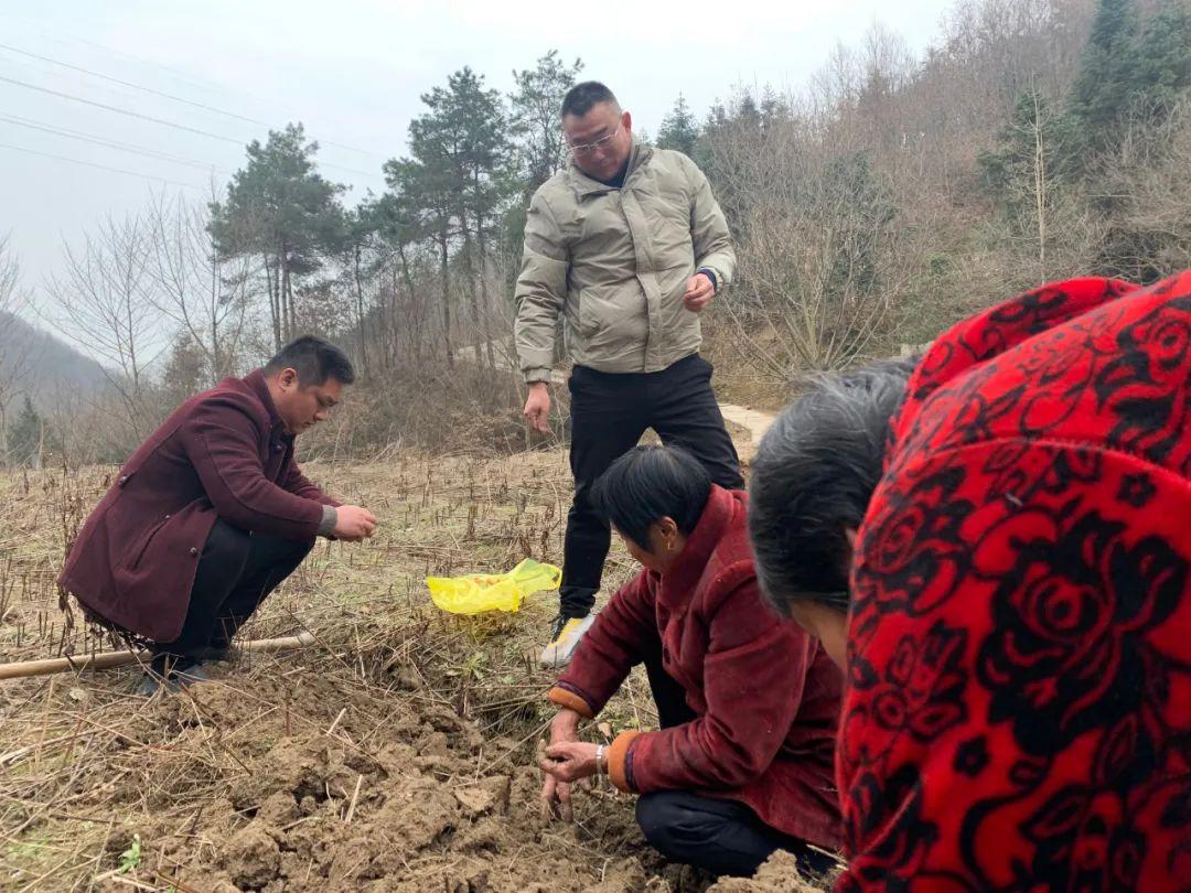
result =
[{"label": "dark red jacket with orange cuffs on the crouching woman", "polygon": [[771,828],[840,847],[833,783],[841,675],[816,639],[766,607],[746,494],[713,487],[679,563],[642,572],[600,611],[550,699],[594,717],[650,643],[697,719],[624,732],[609,775],[624,791],[741,800]]}]

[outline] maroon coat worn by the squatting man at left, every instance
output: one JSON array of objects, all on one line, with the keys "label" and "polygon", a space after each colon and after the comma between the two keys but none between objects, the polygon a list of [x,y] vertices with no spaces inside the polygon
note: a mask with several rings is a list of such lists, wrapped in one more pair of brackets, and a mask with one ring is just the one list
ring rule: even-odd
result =
[{"label": "maroon coat worn by the squatting man at left", "polygon": [[338,502],[299,470],[263,374],[225,379],[183,402],[124,463],[58,582],[108,623],[173,642],[216,518],[313,539],[324,505]]}]

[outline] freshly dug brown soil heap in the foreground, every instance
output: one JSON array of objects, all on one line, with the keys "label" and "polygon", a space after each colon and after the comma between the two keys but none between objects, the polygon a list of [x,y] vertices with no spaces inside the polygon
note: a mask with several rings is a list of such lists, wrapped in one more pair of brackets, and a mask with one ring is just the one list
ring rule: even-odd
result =
[{"label": "freshly dug brown soil heap in the foreground", "polygon": [[160,818],[110,849],[139,833],[142,870],[180,887],[611,893],[644,889],[660,869],[626,820],[629,798],[596,791],[575,825],[549,822],[532,750],[485,741],[431,698],[229,676],[151,705],[138,725],[180,737],[136,792]]}]

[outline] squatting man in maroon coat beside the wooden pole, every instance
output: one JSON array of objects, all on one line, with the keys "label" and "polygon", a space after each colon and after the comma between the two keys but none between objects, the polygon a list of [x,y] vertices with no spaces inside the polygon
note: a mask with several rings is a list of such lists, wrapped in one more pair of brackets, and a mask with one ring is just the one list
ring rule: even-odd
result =
[{"label": "squatting man in maroon coat beside the wooden pole", "polygon": [[132,454],[92,512],[60,583],[100,623],[148,641],[138,691],[206,679],[236,630],[316,536],[360,542],[376,518],[341,505],[294,461],[294,438],[355,380],[333,344],[304,336],[262,369],[183,402]]}]

